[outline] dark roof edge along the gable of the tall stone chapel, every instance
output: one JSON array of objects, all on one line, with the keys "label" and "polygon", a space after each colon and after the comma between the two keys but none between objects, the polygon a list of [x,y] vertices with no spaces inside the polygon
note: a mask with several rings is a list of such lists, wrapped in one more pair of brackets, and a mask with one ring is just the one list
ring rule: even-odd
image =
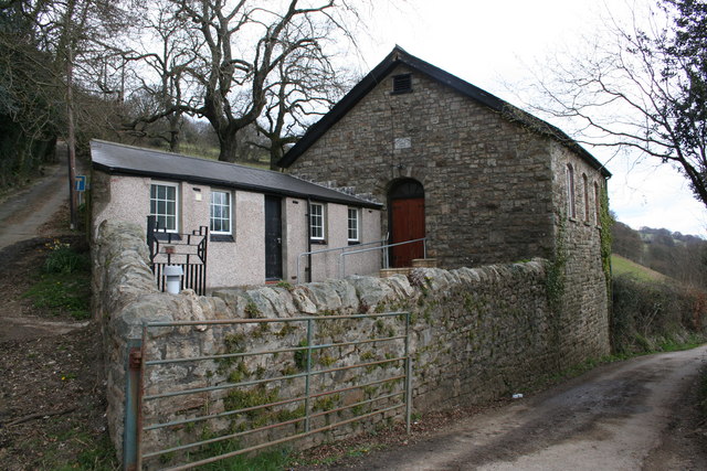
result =
[{"label": "dark roof edge along the gable of the tall stone chapel", "polygon": [[537,118],[507,101],[489,94],[475,85],[469,84],[460,77],[450,74],[412,54],[405,52],[402,47],[395,46],[383,61],[378,64],[361,82],[359,82],[351,90],[337,103],[334,108],[319,119],[316,124],[307,129],[307,132],[293,146],[287,153],[277,162],[282,168],[292,165],[312,144],[314,144],[331,126],[341,119],[351,108],[358,104],[373,87],[379,85],[388,74],[398,65],[404,64],[413,71],[423,73],[433,79],[452,87],[458,93],[485,105],[496,111],[504,114],[508,119],[514,119],[531,127],[536,132],[550,136],[559,141],[562,146],[577,152],[590,165],[599,170],[605,178],[611,176],[611,172],[597,160],[591,153],[581,147],[577,141],[566,135],[561,129]]}]

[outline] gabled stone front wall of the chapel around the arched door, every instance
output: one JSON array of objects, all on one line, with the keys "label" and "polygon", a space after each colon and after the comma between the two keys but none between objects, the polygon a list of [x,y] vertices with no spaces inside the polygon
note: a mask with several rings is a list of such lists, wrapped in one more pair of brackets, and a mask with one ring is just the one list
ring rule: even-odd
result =
[{"label": "gabled stone front wall of the chapel around the arched door", "polygon": [[[413,92],[391,94],[390,77],[404,73],[412,73]],[[409,147],[395,148],[395,139]],[[397,179],[420,181],[430,256],[444,268],[471,267],[552,251],[550,144],[401,65],[288,171],[383,203]],[[381,216],[384,234],[387,211]]]}]

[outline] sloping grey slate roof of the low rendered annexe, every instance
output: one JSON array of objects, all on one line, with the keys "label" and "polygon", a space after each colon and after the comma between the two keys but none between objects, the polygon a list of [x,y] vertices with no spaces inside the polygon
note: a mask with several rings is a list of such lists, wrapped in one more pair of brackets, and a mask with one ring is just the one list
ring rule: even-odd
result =
[{"label": "sloping grey slate roof of the low rendered annexe", "polygon": [[151,176],[233,188],[257,193],[354,206],[380,208],[381,204],[271,170],[199,159],[101,140],[91,141],[93,168],[112,174]]}]

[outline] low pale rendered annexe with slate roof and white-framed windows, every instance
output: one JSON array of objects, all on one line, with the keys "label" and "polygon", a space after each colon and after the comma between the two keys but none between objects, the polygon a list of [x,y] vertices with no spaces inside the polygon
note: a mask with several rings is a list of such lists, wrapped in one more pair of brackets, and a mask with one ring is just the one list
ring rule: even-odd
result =
[{"label": "low pale rendered annexe with slate roof and white-framed windows", "polygon": [[[97,140],[91,153],[94,236],[106,220],[147,234],[150,215],[168,234],[207,226],[209,290],[335,278],[341,250],[302,254],[382,238],[380,204],[284,173]],[[380,257],[346,256],[345,275],[377,274]]]}]

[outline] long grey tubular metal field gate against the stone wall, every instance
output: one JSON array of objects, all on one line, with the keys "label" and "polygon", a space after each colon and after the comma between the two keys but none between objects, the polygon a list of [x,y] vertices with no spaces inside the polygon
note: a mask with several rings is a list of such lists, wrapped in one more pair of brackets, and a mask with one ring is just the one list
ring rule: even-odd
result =
[{"label": "long grey tubular metal field gate against the stone wall", "polygon": [[190,469],[367,419],[404,417],[410,432],[408,312],[149,322],[128,346],[126,469]]}]

